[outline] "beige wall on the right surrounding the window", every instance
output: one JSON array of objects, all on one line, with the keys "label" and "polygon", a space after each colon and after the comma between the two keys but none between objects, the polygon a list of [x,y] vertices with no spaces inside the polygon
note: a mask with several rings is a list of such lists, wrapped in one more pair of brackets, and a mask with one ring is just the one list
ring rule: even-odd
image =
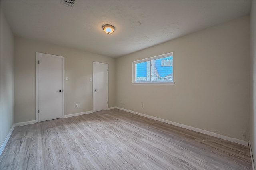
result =
[{"label": "beige wall on the right surrounding the window", "polygon": [[[248,141],[249,46],[245,16],[118,58],[116,105]],[[169,52],[174,85],[132,85],[133,61]]]}]

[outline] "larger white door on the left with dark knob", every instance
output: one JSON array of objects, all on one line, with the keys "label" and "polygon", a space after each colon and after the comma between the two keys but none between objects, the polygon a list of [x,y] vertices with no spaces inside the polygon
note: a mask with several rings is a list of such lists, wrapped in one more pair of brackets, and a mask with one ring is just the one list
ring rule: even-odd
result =
[{"label": "larger white door on the left with dark knob", "polygon": [[64,115],[64,57],[36,53],[37,121]]}]

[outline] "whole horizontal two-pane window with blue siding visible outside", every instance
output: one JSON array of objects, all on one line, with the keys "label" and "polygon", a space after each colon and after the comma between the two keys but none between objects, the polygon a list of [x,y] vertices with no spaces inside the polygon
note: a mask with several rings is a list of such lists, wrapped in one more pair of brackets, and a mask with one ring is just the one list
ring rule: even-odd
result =
[{"label": "whole horizontal two-pane window with blue siding visible outside", "polygon": [[134,61],[132,67],[132,84],[174,84],[172,52]]}]

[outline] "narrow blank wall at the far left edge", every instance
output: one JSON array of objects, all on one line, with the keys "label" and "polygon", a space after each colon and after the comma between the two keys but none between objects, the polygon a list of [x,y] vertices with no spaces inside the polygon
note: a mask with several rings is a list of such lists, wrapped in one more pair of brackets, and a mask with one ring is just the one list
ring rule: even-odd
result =
[{"label": "narrow blank wall at the far left edge", "polygon": [[14,123],[14,36],[2,10],[0,15],[0,146],[2,146]]}]

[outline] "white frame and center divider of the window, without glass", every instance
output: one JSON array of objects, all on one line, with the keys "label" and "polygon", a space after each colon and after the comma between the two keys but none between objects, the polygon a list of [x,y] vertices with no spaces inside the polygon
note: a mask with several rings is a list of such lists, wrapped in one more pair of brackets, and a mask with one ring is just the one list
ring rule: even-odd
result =
[{"label": "white frame and center divider of the window, without glass", "polygon": [[[152,65],[152,60],[156,60],[159,58],[165,58],[168,56],[172,56],[172,82],[170,81],[154,81],[152,82],[152,78],[150,78],[150,81],[144,81],[144,82],[136,82],[136,64],[140,63],[140,62],[146,62],[146,61],[150,61],[150,65]],[[162,54],[159,56],[154,56],[154,57],[150,57],[150,58],[145,58],[142,60],[137,60],[132,62],[132,85],[174,85],[174,69],[173,69],[173,52],[167,53],[167,54]],[[152,67],[150,69],[150,76],[152,76]]]}]

